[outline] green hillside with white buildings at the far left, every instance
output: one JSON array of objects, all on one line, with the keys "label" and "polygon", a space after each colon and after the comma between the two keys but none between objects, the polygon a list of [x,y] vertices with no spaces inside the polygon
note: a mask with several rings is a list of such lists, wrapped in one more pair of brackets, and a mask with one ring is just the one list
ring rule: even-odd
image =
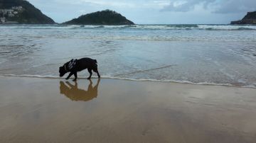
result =
[{"label": "green hillside with white buildings at the far left", "polygon": [[5,23],[54,24],[55,22],[26,0],[0,0],[0,24]]}]

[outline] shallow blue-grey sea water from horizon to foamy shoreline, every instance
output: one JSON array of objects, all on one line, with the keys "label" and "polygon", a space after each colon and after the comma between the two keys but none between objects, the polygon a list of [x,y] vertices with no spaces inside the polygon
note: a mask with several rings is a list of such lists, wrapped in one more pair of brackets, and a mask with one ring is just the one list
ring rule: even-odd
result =
[{"label": "shallow blue-grey sea water from horizon to foamy shoreline", "polygon": [[82,57],[103,78],[256,88],[253,25],[0,25],[0,75],[58,78]]}]

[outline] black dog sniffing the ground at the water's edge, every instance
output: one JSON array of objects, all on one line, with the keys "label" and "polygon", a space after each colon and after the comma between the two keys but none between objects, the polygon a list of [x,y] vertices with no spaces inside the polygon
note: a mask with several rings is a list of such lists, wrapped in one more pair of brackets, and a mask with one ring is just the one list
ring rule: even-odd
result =
[{"label": "black dog sniffing the ground at the water's edge", "polygon": [[63,67],[59,68],[60,77],[64,76],[67,72],[70,72],[67,80],[74,74],[75,79],[73,81],[76,81],[78,79],[78,71],[82,71],[84,69],[87,69],[90,73],[90,76],[87,79],[90,79],[92,76],[92,70],[97,73],[97,76],[100,78],[99,71],[97,70],[97,60],[96,59],[90,59],[90,58],[82,58],[82,59],[71,59],[70,62],[66,62]]}]

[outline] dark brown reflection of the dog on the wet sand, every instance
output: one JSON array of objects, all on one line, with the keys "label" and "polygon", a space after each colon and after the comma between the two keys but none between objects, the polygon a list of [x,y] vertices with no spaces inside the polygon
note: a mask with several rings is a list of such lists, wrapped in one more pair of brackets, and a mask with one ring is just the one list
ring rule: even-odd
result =
[{"label": "dark brown reflection of the dog on the wet sand", "polygon": [[70,82],[60,81],[60,94],[63,94],[70,98],[71,101],[90,101],[93,98],[97,98],[97,88],[100,84],[100,79],[97,80],[97,84],[92,86],[92,80],[89,80],[87,91],[78,88],[78,83],[75,81],[75,85]]}]

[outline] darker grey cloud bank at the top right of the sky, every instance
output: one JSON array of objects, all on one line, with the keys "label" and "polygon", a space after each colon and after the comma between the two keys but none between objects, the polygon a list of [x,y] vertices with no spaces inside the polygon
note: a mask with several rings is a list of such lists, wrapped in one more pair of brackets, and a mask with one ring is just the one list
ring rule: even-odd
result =
[{"label": "darker grey cloud bank at the top right of the sky", "polygon": [[164,7],[161,11],[187,12],[195,10],[198,5],[213,13],[256,11],[256,0],[186,0],[186,3],[175,6],[178,2],[182,1],[171,1],[169,6]]}]

